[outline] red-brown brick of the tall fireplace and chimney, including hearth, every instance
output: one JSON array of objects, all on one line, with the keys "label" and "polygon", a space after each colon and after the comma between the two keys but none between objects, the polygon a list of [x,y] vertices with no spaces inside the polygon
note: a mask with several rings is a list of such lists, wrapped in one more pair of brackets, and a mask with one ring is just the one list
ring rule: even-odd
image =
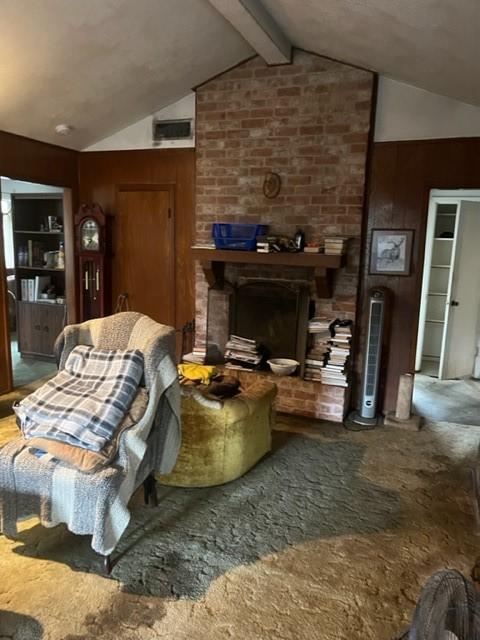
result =
[{"label": "red-brown brick of the tall fireplace and chimney, including hearth", "polygon": [[[274,234],[307,241],[352,238],[333,296],[318,297],[308,268],[227,265],[226,280],[272,279],[306,284],[316,315],[355,319],[365,165],[374,76],[296,50],[291,65],[267,67],[253,58],[197,89],[196,233],[211,240],[213,222],[261,222]],[[267,172],[281,176],[268,199]],[[196,341],[205,342],[208,284],[196,266]],[[243,382],[252,374],[241,372]],[[270,377],[270,374],[262,374]],[[344,389],[299,378],[273,377],[277,408],[339,421]]]}]

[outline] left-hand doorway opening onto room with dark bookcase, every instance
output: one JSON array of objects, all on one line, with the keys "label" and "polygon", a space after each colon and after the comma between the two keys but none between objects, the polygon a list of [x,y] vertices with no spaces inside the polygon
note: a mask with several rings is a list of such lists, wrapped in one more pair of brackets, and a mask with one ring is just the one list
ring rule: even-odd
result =
[{"label": "left-hand doorway opening onto room with dark bookcase", "polygon": [[0,184],[12,371],[2,388],[18,389],[56,371],[53,342],[66,323],[64,190],[3,176]]}]

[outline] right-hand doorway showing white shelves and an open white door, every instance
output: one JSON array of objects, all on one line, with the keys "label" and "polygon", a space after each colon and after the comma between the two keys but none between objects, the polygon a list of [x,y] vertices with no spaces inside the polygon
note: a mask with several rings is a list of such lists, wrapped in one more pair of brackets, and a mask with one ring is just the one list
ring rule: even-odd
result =
[{"label": "right-hand doorway showing white shelves and an open white door", "polygon": [[480,191],[430,194],[414,405],[480,425]]}]

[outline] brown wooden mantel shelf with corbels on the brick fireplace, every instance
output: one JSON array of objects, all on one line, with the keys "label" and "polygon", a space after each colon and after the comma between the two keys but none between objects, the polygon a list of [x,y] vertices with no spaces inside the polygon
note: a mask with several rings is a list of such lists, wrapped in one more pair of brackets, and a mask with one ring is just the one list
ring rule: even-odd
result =
[{"label": "brown wooden mantel shelf with corbels on the brick fireplace", "polygon": [[192,247],[194,260],[202,263],[208,284],[223,285],[225,264],[273,264],[288,267],[310,267],[315,270],[315,284],[319,298],[331,298],[333,274],[345,264],[345,256],[324,253],[258,253],[257,251],[222,251]]}]

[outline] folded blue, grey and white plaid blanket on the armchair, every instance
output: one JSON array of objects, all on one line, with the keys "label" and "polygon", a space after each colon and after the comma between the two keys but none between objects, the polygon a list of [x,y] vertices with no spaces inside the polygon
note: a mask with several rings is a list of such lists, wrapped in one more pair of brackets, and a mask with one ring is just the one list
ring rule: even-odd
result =
[{"label": "folded blue, grey and white plaid blanket on the armchair", "polygon": [[23,436],[100,451],[128,412],[142,375],[136,349],[76,346],[62,371],[14,406]]}]

